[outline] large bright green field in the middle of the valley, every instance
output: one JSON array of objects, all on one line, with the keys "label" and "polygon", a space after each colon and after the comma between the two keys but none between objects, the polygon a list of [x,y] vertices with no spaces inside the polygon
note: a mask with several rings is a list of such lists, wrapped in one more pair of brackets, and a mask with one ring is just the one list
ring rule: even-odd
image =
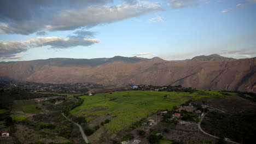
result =
[{"label": "large bright green field in the middle of the valley", "polygon": [[[229,95],[234,95],[230,93]],[[141,118],[147,117],[158,110],[171,110],[190,99],[207,97],[225,97],[218,91],[199,90],[198,92],[151,92],[151,91],[123,91],[86,95],[81,106],[71,111],[72,115],[90,117],[110,115],[110,123],[104,127],[115,133],[129,128]],[[102,122],[105,119],[102,119]]]}]

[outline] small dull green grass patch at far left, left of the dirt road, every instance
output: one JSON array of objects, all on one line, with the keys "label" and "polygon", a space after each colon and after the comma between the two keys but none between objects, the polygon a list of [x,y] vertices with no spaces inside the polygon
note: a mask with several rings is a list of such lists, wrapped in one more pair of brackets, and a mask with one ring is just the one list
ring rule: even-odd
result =
[{"label": "small dull green grass patch at far left, left of the dirt road", "polygon": [[36,101],[34,100],[16,100],[14,101],[13,109],[14,110],[20,110],[25,113],[40,113],[43,112],[43,110],[39,110],[36,107],[38,104],[36,104]]}]

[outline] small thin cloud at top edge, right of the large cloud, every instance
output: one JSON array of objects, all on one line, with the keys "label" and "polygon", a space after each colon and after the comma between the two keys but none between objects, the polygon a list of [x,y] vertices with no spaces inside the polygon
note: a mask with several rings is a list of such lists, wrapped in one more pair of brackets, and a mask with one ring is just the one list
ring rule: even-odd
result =
[{"label": "small thin cloud at top edge, right of the large cloud", "polygon": [[207,2],[206,0],[169,0],[170,3],[168,5],[173,9],[182,9],[185,7],[194,7],[196,5],[200,5],[203,2]]}]

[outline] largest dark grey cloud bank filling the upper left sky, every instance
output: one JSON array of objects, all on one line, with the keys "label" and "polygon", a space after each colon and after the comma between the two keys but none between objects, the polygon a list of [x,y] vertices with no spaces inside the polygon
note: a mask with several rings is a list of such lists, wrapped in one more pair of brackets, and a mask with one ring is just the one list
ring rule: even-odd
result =
[{"label": "largest dark grey cloud bank filling the upper left sky", "polygon": [[[141,1],[140,4],[123,3],[112,7],[97,4],[109,2],[107,0],[98,0],[96,2],[93,0],[75,0],[74,2],[68,0],[63,2],[44,0],[39,3],[26,0],[29,2],[28,5],[24,4],[24,1],[19,1],[18,3],[12,3],[7,0],[0,1],[0,9],[4,8],[0,10],[0,23],[2,23],[0,25],[0,33],[31,34],[38,31],[66,31],[83,27],[90,28],[103,23],[121,21],[161,10],[161,3],[148,1]],[[68,7],[68,3],[71,6]],[[11,4],[14,4],[14,6]],[[15,15],[16,13],[14,14],[14,11],[9,9],[21,11],[19,11],[18,15]]]}]

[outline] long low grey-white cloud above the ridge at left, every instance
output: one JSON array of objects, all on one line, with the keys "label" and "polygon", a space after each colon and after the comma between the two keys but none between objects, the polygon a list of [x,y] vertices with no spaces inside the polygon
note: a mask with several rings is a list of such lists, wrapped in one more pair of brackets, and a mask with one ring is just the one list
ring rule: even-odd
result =
[{"label": "long low grey-white cloud above the ridge at left", "polygon": [[89,46],[99,43],[98,39],[73,39],[63,37],[37,37],[28,40],[0,40],[0,57],[12,57],[28,49],[51,46],[52,49],[66,49],[74,46]]}]

